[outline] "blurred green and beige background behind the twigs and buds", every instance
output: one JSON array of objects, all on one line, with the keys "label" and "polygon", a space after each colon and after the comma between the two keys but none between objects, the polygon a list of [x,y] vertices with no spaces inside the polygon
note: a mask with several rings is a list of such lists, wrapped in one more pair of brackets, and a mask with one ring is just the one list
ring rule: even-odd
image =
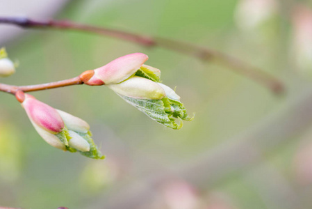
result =
[{"label": "blurred green and beige background behind the twigs and buds", "polygon": [[33,93],[91,126],[106,160],[46,144],[0,94],[0,206],[32,209],[312,207],[312,4],[295,0],[0,0],[0,16],[53,17],[183,40],[281,79],[274,95],[217,63],[73,31],[0,27],[19,61],[6,84],[67,79],[143,52],[195,120],[167,129],[105,86]]}]

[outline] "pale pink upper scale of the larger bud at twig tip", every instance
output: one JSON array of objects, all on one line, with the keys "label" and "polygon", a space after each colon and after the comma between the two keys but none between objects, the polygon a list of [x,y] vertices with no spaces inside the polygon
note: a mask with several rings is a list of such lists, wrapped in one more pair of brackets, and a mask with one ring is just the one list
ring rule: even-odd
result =
[{"label": "pale pink upper scale of the larger bud at twig tip", "polygon": [[85,84],[99,85],[123,82],[133,75],[147,59],[149,59],[148,56],[142,53],[121,56],[101,68],[95,69],[95,75],[88,82],[85,82]]}]

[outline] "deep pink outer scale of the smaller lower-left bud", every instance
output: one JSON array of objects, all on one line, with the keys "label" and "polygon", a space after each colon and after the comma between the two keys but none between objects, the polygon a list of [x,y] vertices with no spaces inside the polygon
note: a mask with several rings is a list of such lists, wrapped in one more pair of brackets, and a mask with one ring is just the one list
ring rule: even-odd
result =
[{"label": "deep pink outer scale of the smaller lower-left bud", "polygon": [[33,96],[26,94],[22,106],[26,110],[26,114],[31,122],[38,125],[38,127],[52,134],[57,134],[63,130],[64,122],[60,114],[48,104],[44,104],[36,100]]}]

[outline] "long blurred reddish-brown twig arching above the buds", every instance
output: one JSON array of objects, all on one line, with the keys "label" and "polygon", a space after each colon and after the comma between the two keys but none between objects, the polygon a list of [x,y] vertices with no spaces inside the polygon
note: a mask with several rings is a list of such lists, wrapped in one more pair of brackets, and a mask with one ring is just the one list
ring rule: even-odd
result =
[{"label": "long blurred reddish-brown twig arching above the buds", "polygon": [[0,24],[1,23],[14,24],[23,28],[67,29],[88,33],[97,33],[102,36],[110,36],[113,38],[128,40],[129,42],[136,42],[145,47],[163,47],[175,52],[187,54],[189,56],[195,56],[197,59],[202,59],[204,61],[215,61],[216,63],[220,63],[229,67],[229,69],[239,73],[240,75],[244,75],[245,77],[253,79],[255,82],[258,82],[258,84],[262,84],[263,86],[269,88],[273,93],[278,94],[284,92],[284,85],[279,81],[279,79],[274,78],[267,72],[258,68],[254,68],[254,66],[240,61],[235,57],[223,54],[222,52],[191,45],[186,42],[180,42],[166,38],[141,36],[135,33],[106,29],[104,27],[90,26],[87,24],[77,24],[75,22],[69,21],[36,21],[24,17],[0,17]]}]

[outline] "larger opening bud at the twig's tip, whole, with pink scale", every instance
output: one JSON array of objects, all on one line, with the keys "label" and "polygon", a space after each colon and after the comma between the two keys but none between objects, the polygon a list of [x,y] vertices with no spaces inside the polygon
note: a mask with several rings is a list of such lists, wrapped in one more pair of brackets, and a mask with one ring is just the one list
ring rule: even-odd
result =
[{"label": "larger opening bud at the twig's tip, whole, with pink scale", "polygon": [[81,75],[84,84],[106,85],[133,104],[153,120],[173,129],[179,129],[174,118],[192,121],[172,88],[161,84],[161,70],[145,65],[148,56],[133,53],[122,56],[110,63],[88,70]]}]

